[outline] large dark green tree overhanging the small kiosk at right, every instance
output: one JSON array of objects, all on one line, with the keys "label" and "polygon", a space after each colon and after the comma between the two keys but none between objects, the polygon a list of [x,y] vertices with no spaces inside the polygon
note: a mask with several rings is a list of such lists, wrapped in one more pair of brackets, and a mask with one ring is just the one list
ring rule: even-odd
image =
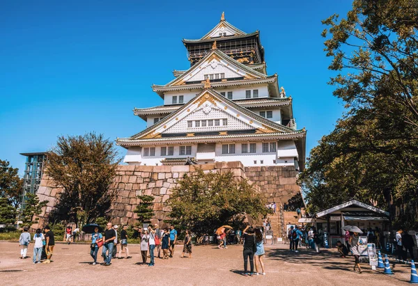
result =
[{"label": "large dark green tree overhanging the small kiosk at right", "polygon": [[[323,21],[330,84],[348,112],[300,176],[311,212],[357,198],[417,223],[418,1],[355,0]],[[406,216],[404,216],[406,214]]]}]

